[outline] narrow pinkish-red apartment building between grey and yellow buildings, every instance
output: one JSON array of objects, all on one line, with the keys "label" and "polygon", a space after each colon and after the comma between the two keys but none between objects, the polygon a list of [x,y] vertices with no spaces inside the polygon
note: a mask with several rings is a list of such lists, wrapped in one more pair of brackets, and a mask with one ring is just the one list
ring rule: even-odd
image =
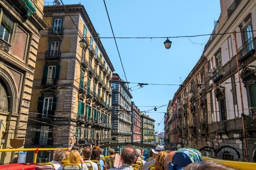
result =
[{"label": "narrow pinkish-red apartment building between grey and yellow buildings", "polygon": [[132,102],[131,142],[140,142],[140,109]]}]

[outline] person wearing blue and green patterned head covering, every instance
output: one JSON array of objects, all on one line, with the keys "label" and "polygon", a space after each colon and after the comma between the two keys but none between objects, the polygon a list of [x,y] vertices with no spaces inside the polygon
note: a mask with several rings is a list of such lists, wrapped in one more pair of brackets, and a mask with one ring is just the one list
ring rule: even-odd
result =
[{"label": "person wearing blue and green patterned head covering", "polygon": [[177,150],[172,156],[172,162],[169,170],[181,170],[188,164],[203,161],[202,154],[193,148],[181,148]]}]

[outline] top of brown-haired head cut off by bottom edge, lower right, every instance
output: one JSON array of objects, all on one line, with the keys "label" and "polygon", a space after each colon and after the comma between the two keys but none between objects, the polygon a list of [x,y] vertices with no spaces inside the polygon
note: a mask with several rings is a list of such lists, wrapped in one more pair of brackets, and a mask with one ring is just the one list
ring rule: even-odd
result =
[{"label": "top of brown-haired head cut off by bottom edge, lower right", "polygon": [[235,170],[234,168],[223,165],[220,162],[213,161],[213,160],[206,160],[203,162],[195,162],[192,164],[189,164],[184,168],[184,170]]}]

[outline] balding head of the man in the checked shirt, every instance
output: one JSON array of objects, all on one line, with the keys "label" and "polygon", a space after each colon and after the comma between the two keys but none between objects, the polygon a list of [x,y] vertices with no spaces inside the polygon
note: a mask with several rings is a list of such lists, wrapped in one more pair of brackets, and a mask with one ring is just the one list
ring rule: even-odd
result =
[{"label": "balding head of the man in the checked shirt", "polygon": [[121,153],[121,160],[123,164],[132,165],[135,160],[136,151],[133,147],[124,147]]}]

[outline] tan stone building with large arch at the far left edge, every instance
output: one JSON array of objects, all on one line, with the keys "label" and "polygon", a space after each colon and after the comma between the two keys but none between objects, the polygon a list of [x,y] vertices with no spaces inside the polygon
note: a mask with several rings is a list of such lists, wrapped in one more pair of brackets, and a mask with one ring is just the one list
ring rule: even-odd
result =
[{"label": "tan stone building with large arch at the far left edge", "polygon": [[[0,148],[23,148],[44,0],[0,1]],[[0,164],[15,152],[0,152]]]}]

